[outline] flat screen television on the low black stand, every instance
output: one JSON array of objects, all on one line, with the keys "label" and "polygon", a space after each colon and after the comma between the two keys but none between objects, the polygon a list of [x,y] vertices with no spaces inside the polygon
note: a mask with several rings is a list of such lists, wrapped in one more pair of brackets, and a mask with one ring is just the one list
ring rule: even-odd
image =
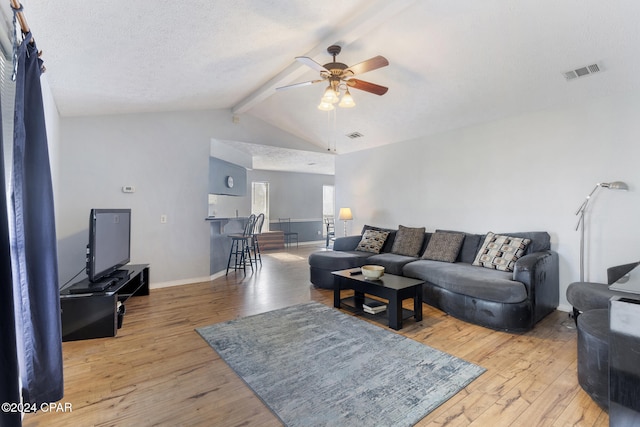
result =
[{"label": "flat screen television on the low black stand", "polygon": [[87,276],[98,282],[129,263],[131,209],[91,209]]}]

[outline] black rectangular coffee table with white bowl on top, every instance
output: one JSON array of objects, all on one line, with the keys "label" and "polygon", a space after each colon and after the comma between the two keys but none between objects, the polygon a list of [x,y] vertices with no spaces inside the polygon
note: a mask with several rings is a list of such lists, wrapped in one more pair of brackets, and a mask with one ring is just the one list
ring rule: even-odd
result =
[{"label": "black rectangular coffee table with white bowl on top", "polygon": [[413,298],[413,317],[422,320],[422,285],[424,280],[396,276],[385,273],[380,279],[366,279],[360,268],[332,271],[333,274],[333,306],[341,307],[340,291],[354,290],[355,309],[362,311],[365,294],[375,295],[388,301],[387,313],[389,327],[396,331],[402,328],[402,301]]}]

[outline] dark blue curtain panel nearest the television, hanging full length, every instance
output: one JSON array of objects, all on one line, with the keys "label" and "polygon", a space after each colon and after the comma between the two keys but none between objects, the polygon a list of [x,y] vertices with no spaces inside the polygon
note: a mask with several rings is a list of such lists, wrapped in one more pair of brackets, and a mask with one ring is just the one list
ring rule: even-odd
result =
[{"label": "dark blue curtain panel nearest the television, hanging full length", "polygon": [[18,48],[11,252],[18,361],[25,402],[63,396],[62,332],[53,188],[38,58],[31,33]]}]

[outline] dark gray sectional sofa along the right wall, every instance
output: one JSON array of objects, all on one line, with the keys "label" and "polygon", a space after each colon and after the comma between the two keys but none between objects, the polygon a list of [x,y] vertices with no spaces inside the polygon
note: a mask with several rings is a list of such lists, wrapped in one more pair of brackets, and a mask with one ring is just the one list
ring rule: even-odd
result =
[{"label": "dark gray sectional sofa along the right wall", "polygon": [[[364,233],[371,233],[367,230],[388,233],[379,253],[356,250]],[[333,251],[314,252],[309,256],[311,283],[333,289],[332,271],[365,264],[382,265],[387,273],[424,280],[425,303],[459,319],[512,332],[532,329],[557,308],[558,255],[550,249],[548,233],[500,233],[529,240],[520,258],[507,269],[513,271],[500,271],[495,266],[473,265],[481,249],[486,249],[483,244],[487,234],[436,232],[439,236],[442,233],[464,236],[455,259],[449,260],[453,262],[423,258],[425,251],[432,252],[429,242],[434,233],[424,232],[417,253],[407,255],[394,250],[398,230],[365,226],[363,235],[337,238]]]}]

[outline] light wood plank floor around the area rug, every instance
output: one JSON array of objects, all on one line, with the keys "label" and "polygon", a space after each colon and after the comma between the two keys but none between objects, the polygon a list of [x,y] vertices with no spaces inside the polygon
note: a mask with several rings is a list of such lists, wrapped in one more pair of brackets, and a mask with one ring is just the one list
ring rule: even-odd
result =
[{"label": "light wood plank floor around the area rug", "polygon": [[[230,273],[130,299],[117,337],[64,343],[62,403],[72,412],[27,414],[24,425],[281,425],[194,328],[309,300],[331,305],[331,291],[309,284],[313,250],[264,255],[246,278]],[[425,305],[424,319],[406,321],[399,333],[487,372],[418,425],[607,426],[606,412],[578,385],[576,331],[568,326],[567,313],[556,312],[529,333],[509,334]]]}]

